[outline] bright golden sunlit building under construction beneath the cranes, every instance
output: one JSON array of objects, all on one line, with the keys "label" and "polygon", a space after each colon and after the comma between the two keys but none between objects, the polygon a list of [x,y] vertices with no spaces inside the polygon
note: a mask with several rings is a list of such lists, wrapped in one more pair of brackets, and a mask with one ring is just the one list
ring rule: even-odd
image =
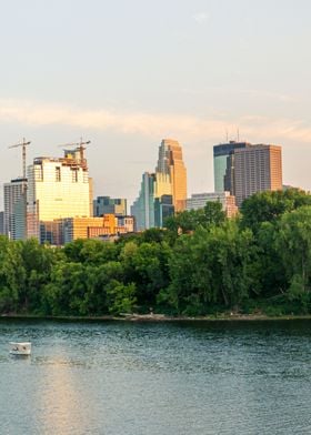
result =
[{"label": "bright golden sunlit building under construction beneath the cranes", "polygon": [[28,168],[28,237],[53,243],[51,222],[90,216],[90,179],[83,148],[66,150],[63,158],[37,158]]}]

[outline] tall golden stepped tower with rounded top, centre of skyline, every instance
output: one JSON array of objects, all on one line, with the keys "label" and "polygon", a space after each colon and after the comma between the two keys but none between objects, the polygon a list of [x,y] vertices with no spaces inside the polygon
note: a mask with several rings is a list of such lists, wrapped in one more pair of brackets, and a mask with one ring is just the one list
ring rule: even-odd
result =
[{"label": "tall golden stepped tower with rounded top, centre of skyline", "polygon": [[167,175],[165,183],[171,185],[162,194],[171,194],[174,210],[185,209],[187,201],[187,170],[182,160],[182,149],[178,141],[163,139],[159,146],[159,159],[156,173]]}]

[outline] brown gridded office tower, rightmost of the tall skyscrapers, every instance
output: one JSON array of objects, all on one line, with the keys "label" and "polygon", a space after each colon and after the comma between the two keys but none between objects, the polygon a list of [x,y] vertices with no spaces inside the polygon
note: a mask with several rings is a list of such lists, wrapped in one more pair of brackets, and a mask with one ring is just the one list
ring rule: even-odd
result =
[{"label": "brown gridded office tower, rightmost of the tall skyscrapers", "polygon": [[234,150],[232,159],[237,205],[257,192],[282,190],[282,149],[278,145],[252,145]]}]

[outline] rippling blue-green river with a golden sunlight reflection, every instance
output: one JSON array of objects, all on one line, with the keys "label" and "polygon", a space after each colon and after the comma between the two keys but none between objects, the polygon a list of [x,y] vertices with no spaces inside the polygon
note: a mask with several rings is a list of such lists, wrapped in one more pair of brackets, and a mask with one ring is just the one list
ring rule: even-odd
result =
[{"label": "rippling blue-green river with a golden sunlight reflection", "polygon": [[310,337],[311,321],[1,320],[0,433],[311,434]]}]

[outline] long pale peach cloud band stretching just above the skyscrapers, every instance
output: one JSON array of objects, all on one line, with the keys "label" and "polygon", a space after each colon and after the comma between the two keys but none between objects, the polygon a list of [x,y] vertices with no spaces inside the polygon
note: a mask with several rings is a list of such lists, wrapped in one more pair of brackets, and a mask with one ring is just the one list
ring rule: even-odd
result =
[{"label": "long pale peach cloud band stretching just above the skyscrapers", "polygon": [[311,143],[311,125],[303,120],[271,119],[257,114],[208,118],[191,114],[120,112],[91,110],[69,105],[41,104],[0,100],[0,123],[44,127],[67,125],[81,130],[94,129],[140,136],[174,136],[182,142],[218,143],[240,130],[240,138],[253,142]]}]

